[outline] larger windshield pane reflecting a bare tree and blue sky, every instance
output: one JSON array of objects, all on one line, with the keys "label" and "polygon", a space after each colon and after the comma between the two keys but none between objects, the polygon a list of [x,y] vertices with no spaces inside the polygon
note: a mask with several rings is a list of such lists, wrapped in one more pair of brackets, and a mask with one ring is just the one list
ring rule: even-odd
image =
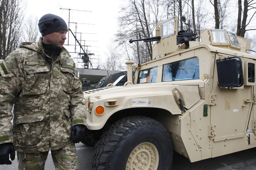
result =
[{"label": "larger windshield pane reflecting a bare tree and blue sky", "polygon": [[193,57],[163,65],[163,82],[199,79],[199,59]]}]

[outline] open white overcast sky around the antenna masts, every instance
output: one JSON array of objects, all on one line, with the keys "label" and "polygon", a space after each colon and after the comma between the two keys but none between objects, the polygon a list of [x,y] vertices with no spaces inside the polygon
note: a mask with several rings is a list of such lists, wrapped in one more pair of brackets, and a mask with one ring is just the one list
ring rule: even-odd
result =
[{"label": "open white overcast sky around the antenna masts", "polygon": [[[61,16],[68,24],[72,32],[77,32],[82,45],[89,46],[87,49],[94,53],[94,58],[105,60],[107,45],[117,33],[117,17],[120,11],[120,0],[26,0],[26,16],[35,15],[38,19],[46,13]],[[60,9],[62,8],[62,9]],[[69,15],[69,10],[70,15]],[[89,11],[89,12],[88,12]],[[77,24],[75,24],[77,23]],[[68,36],[68,35],[67,35]],[[69,33],[69,40],[64,46],[69,52],[75,52],[74,36]],[[79,50],[79,47],[77,47]],[[93,61],[97,62],[97,61]],[[78,64],[77,64],[78,65]],[[95,67],[94,67],[95,68]]]}]

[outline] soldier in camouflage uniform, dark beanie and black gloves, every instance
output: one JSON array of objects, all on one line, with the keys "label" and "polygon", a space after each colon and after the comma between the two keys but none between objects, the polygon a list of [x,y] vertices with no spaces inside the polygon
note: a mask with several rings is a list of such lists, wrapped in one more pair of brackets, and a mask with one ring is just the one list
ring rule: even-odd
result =
[{"label": "soldier in camouflage uniform, dark beanie and black gloves", "polygon": [[0,62],[0,164],[11,164],[16,150],[19,169],[44,169],[51,150],[56,169],[78,169],[74,143],[84,136],[86,114],[75,63],[63,47],[68,27],[50,13],[38,27],[37,43],[22,43]]}]

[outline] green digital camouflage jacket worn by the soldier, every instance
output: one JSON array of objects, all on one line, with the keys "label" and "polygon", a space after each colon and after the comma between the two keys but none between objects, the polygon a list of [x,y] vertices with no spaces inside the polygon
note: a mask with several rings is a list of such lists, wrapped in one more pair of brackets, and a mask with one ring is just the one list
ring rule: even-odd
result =
[{"label": "green digital camouflage jacket worn by the soldier", "polygon": [[74,60],[63,47],[52,62],[43,49],[41,40],[22,43],[0,62],[0,144],[12,142],[23,153],[63,148],[71,127],[86,125]]}]

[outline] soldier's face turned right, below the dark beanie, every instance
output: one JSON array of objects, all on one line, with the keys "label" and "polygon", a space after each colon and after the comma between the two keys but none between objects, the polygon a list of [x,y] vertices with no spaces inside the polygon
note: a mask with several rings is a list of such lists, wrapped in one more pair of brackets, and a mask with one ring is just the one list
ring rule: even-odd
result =
[{"label": "soldier's face turned right, below the dark beanie", "polygon": [[57,48],[63,47],[63,44],[65,43],[65,39],[67,39],[66,33],[67,33],[66,30],[49,33],[43,36],[43,41],[45,43],[56,44]]}]

